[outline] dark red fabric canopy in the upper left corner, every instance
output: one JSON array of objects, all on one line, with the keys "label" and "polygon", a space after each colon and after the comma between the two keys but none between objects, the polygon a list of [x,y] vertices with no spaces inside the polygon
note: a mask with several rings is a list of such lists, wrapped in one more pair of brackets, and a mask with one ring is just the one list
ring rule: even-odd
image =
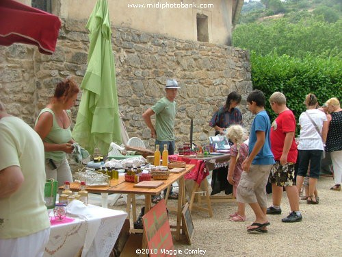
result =
[{"label": "dark red fabric canopy in the upper left corner", "polygon": [[0,45],[36,45],[40,53],[55,51],[60,19],[13,0],[0,0]]}]

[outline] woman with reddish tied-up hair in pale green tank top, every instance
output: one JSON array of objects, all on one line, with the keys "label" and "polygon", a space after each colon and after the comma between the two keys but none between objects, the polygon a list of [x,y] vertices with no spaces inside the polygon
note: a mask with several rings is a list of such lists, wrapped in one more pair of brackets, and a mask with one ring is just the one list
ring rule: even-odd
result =
[{"label": "woman with reddish tied-up hair in pale green tank top", "polygon": [[73,152],[71,137],[70,108],[75,105],[79,86],[73,79],[57,84],[55,94],[46,108],[40,111],[34,130],[44,143],[45,172],[47,179],[53,178],[62,186],[65,181],[73,181],[66,154]]}]

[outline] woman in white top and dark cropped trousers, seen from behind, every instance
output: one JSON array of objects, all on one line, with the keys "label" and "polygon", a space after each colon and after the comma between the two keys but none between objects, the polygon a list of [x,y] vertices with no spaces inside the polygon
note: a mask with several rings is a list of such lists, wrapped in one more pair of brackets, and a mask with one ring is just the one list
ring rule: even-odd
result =
[{"label": "woman in white top and dark cropped trousers, seen from behind", "polygon": [[304,104],[306,111],[300,114],[300,140],[298,144],[299,151],[299,167],[297,174],[297,188],[300,190],[304,176],[308,171],[310,164],[310,175],[308,180],[308,199],[307,204],[318,204],[315,197],[315,188],[319,178],[319,170],[321,167],[321,156],[326,143],[326,135],[328,132],[328,119],[326,114],[317,110],[317,98],[313,94],[306,95]]}]

